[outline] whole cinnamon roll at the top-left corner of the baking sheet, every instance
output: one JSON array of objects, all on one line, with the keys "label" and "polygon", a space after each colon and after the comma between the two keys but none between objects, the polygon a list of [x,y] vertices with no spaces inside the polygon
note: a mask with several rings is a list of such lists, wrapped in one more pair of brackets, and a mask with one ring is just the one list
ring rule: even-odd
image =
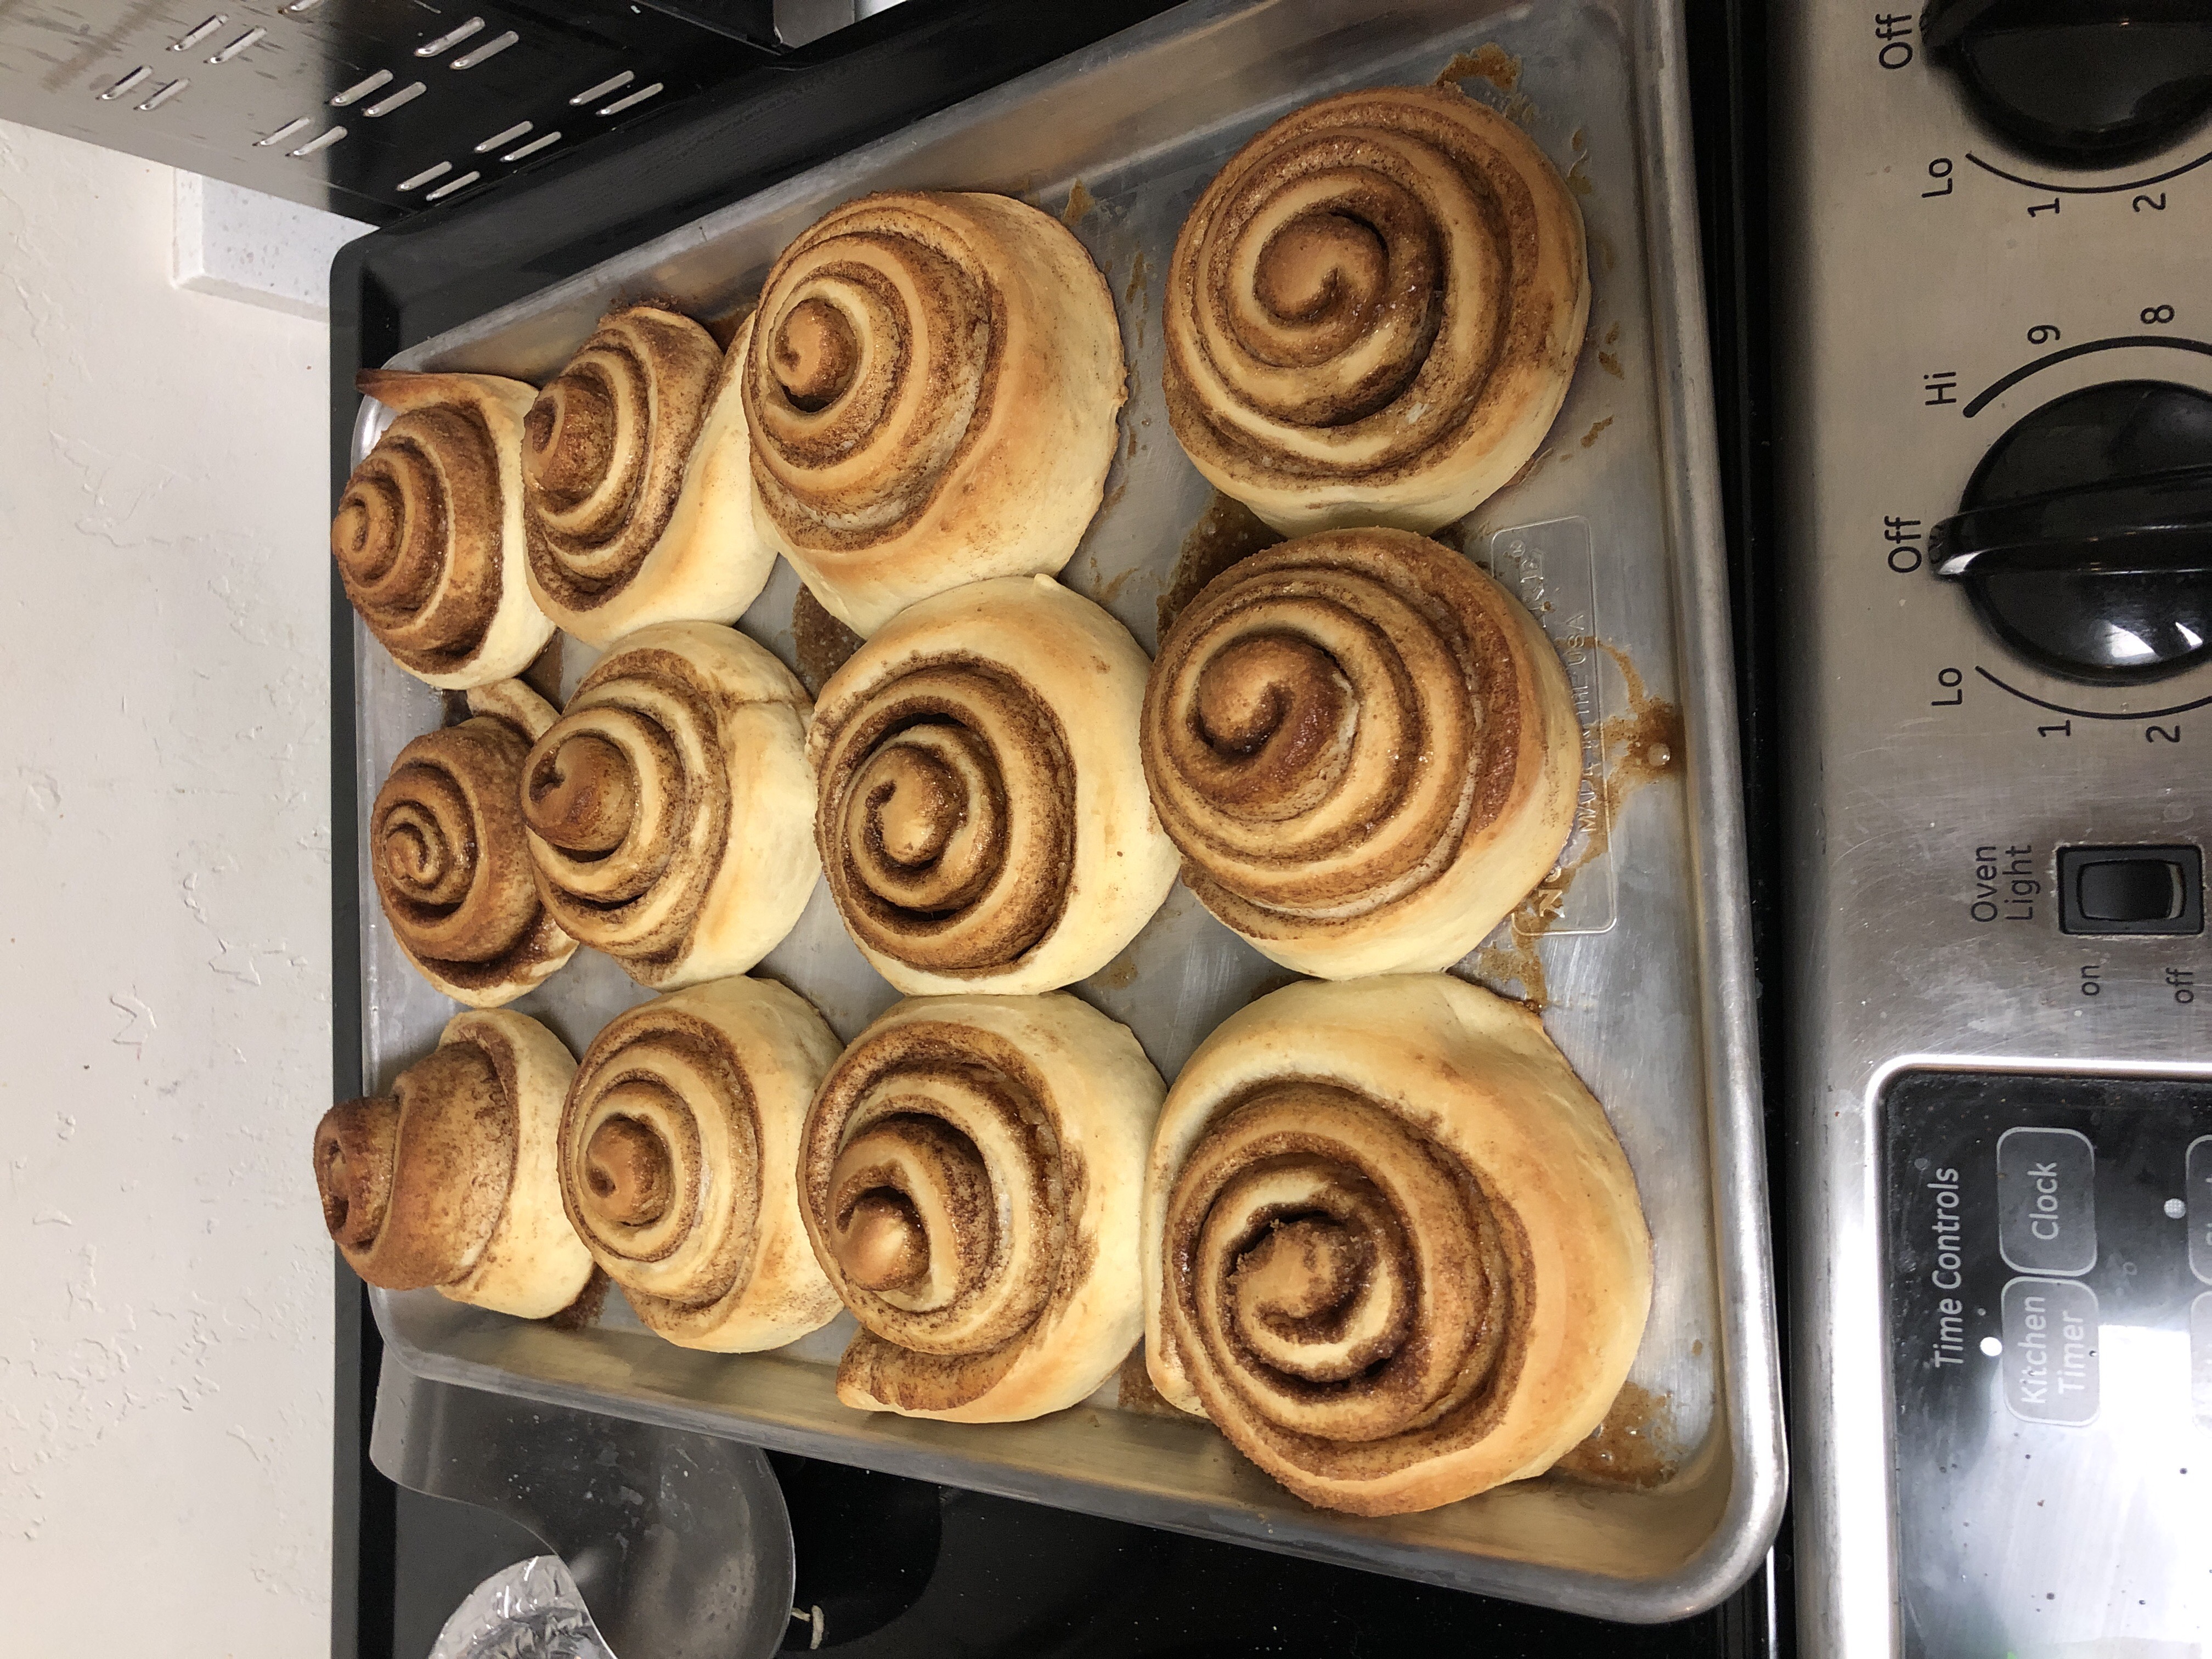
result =
[{"label": "whole cinnamon roll at the top-left corner of the baking sheet", "polygon": [[330,522],[345,597],[416,679],[465,690],[529,668],[553,624],[522,553],[522,416],[538,396],[495,374],[356,376],[398,411]]}]

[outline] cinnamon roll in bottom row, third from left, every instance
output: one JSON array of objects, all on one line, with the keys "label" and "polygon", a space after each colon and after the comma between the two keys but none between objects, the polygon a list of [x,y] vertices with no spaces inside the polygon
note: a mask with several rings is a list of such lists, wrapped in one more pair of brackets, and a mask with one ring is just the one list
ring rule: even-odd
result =
[{"label": "cinnamon roll in bottom row, third from left", "polygon": [[801,1208],[860,1334],[865,1411],[1024,1422],[1075,1405],[1144,1323],[1137,1199],[1159,1073],[1071,995],[916,998],[807,1113]]}]

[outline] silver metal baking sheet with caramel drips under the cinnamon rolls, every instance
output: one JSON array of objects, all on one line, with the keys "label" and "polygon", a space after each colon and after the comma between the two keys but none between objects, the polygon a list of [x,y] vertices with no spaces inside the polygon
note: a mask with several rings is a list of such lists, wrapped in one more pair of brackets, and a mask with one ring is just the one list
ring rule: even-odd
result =
[{"label": "silver metal baking sheet with caramel drips under the cinnamon rolls", "polygon": [[[1641,1484],[1553,1473],[1425,1515],[1354,1520],[1290,1498],[1194,1418],[1124,1409],[1115,1380],[1026,1425],[849,1411],[832,1389],[849,1316],[776,1354],[708,1356],[650,1336],[619,1298],[593,1329],[551,1329],[434,1292],[378,1292],[385,1340],[409,1369],[1615,1619],[1690,1615],[1761,1559],[1785,1486],[1781,1391],[1697,215],[1668,0],[1192,0],[425,341],[394,367],[542,383],[617,301],[672,296],[697,316],[730,316],[792,237],[865,190],[1022,195],[1091,248],[1130,363],[1106,507],[1062,580],[1150,650],[1179,549],[1212,502],[1159,392],[1159,281],[1186,210],[1285,111],[1447,71],[1535,133],[1588,226],[1590,332],[1566,407],[1537,462],[1455,526],[1568,661],[1588,761],[1568,849],[1579,867],[1540,936],[1528,918],[1520,933],[1509,922],[1458,971],[1542,1000],[1637,1170],[1655,1305],[1613,1440],[1593,1449]],[[363,449],[378,427],[365,403]],[[741,626],[796,666],[794,593],[779,564]],[[591,653],[564,644],[568,690]],[[440,699],[365,637],[356,661],[365,803],[400,745],[440,723]],[[383,1088],[434,1044],[451,1004],[398,953],[365,865],[356,878],[365,1075]],[[845,938],[825,887],[761,971],[810,995],[845,1040],[896,995]],[[1208,1031],[1283,980],[1177,887],[1137,942],[1075,989],[1172,1079]],[[580,951],[515,1006],[582,1051],[644,995]]]}]

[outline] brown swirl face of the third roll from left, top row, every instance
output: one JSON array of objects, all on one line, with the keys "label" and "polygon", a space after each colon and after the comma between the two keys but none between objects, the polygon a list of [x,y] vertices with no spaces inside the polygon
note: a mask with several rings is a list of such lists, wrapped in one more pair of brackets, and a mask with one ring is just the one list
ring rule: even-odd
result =
[{"label": "brown swirl face of the third roll from left, top row", "polygon": [[927,195],[854,201],[794,241],[743,367],[761,509],[807,549],[887,540],[929,507],[991,411],[1002,305]]}]

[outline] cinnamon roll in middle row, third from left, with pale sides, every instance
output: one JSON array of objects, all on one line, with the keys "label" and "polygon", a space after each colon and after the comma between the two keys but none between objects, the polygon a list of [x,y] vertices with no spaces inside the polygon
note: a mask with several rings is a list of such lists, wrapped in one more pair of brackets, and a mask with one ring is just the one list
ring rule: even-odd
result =
[{"label": "cinnamon roll in middle row, third from left, with pale sides", "polygon": [[1146,659],[1046,575],[922,599],[823,686],[814,836],[854,942],[909,995],[1106,967],[1175,883],[1137,761]]}]

